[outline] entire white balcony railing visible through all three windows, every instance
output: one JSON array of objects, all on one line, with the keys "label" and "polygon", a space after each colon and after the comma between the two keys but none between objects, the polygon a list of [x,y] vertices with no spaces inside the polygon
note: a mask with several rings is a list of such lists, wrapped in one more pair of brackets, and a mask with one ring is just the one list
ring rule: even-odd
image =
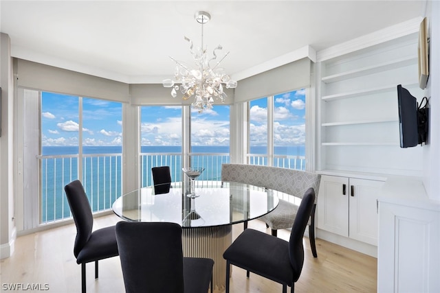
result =
[{"label": "entire white balcony railing visible through all three windows", "polygon": [[[227,153],[192,153],[191,165],[205,167],[199,177],[212,186],[221,180],[221,164],[230,163]],[[72,218],[64,187],[78,178],[78,155],[39,156],[41,163],[40,222],[46,224]],[[267,165],[267,156],[248,155],[250,164]],[[171,178],[180,183],[181,153],[140,154],[140,187],[153,185],[151,168],[170,166]],[[83,154],[82,182],[93,212],[111,209],[122,195],[122,154]],[[305,157],[274,156],[274,166],[305,169]]]}]

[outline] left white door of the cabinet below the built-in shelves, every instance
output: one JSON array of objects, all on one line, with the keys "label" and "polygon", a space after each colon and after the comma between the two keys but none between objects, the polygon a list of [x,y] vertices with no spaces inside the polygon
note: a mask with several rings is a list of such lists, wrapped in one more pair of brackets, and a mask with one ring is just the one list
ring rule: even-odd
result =
[{"label": "left white door of the cabinet below the built-in shelves", "polygon": [[349,236],[349,178],[321,176],[317,206],[318,228]]}]

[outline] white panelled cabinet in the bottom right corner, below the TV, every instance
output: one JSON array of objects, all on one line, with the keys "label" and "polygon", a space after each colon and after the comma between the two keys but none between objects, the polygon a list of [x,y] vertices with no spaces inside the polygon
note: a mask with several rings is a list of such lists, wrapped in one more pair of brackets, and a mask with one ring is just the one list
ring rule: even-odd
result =
[{"label": "white panelled cabinet in the bottom right corner, below the TV", "polygon": [[379,223],[377,292],[440,292],[440,202],[421,180],[387,180]]}]

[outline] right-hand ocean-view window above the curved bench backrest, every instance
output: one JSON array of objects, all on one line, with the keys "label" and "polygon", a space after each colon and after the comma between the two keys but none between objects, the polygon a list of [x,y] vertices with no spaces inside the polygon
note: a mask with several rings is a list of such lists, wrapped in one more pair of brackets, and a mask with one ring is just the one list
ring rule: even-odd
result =
[{"label": "right-hand ocean-view window above the curved bench backrest", "polygon": [[248,163],[305,169],[305,90],[249,103]]}]

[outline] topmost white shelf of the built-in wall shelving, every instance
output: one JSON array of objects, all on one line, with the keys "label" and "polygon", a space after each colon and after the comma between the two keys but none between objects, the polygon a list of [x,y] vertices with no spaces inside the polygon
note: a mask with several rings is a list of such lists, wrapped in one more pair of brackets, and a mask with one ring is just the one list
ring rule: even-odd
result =
[{"label": "topmost white shelf of the built-in wall shelving", "polygon": [[350,78],[358,78],[362,75],[369,75],[371,73],[377,73],[380,71],[386,71],[390,69],[395,69],[399,67],[404,67],[407,65],[414,65],[417,64],[417,58],[415,57],[406,57],[401,58],[397,60],[392,60],[388,62],[383,62],[377,65],[368,66],[368,67],[362,67],[360,69],[355,69],[351,71],[345,71],[342,73],[337,73],[329,76],[323,77],[321,80],[322,82],[330,83],[330,82],[338,82],[340,80],[347,80]]}]

